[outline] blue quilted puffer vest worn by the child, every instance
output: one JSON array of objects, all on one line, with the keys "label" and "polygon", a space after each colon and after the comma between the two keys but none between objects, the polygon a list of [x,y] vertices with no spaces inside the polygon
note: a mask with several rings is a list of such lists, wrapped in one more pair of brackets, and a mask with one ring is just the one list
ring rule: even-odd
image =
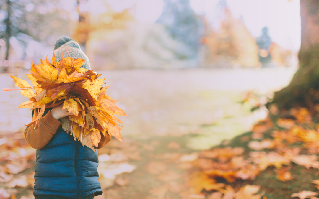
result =
[{"label": "blue quilted puffer vest worn by the child", "polygon": [[36,152],[33,195],[71,198],[82,198],[93,193],[101,195],[98,164],[97,151],[82,146],[60,126],[50,142]]}]

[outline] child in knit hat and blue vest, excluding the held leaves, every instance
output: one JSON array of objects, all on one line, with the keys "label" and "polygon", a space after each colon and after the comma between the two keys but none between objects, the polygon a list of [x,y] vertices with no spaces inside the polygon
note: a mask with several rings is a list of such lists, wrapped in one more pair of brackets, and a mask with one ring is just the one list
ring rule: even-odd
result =
[{"label": "child in knit hat and blue vest, excluding the held leaves", "polygon": [[[77,42],[67,37],[60,37],[54,45],[56,60],[63,58],[85,59],[82,68],[91,69],[90,62],[81,51]],[[36,163],[34,167],[35,199],[92,199],[101,195],[102,189],[98,181],[98,153],[82,146],[73,136],[63,131],[59,119],[72,115],[63,104],[55,108],[47,108],[34,126],[26,127],[24,136],[28,144],[36,148]],[[38,110],[32,111],[36,118]],[[101,133],[101,141],[97,148],[105,146],[111,136]]]}]

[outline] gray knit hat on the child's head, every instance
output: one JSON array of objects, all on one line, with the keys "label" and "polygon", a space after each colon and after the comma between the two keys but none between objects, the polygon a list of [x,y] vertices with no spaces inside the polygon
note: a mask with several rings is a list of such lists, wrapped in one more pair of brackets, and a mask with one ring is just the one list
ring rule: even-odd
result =
[{"label": "gray knit hat on the child's head", "polygon": [[69,54],[66,52],[65,48],[68,50],[71,58],[74,58],[74,59],[81,58],[85,60],[81,68],[91,70],[90,61],[81,50],[80,45],[73,39],[70,39],[67,37],[62,36],[59,39],[56,39],[56,44],[54,45],[54,50],[53,50],[53,53],[56,56],[56,61],[61,60],[62,52],[64,52],[63,58],[69,57]]}]

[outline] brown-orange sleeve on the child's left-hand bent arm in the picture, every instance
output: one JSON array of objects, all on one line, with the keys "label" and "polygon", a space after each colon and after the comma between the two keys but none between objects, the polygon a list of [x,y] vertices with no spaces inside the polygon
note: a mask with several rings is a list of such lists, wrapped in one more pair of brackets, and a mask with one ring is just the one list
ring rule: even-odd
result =
[{"label": "brown-orange sleeve on the child's left-hand bent arm in the picture", "polygon": [[[35,119],[37,116],[37,111],[34,111],[33,119]],[[41,149],[50,142],[60,125],[61,122],[54,118],[51,114],[51,110],[49,110],[44,117],[41,117],[38,120],[35,129],[35,124],[26,127],[26,130],[24,131],[26,142],[32,148]]]}]

